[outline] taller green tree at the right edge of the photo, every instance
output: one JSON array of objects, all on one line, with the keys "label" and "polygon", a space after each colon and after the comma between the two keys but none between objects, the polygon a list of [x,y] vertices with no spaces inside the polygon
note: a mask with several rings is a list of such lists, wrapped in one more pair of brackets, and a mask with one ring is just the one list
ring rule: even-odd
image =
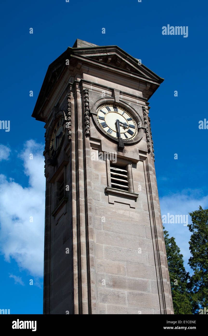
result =
[{"label": "taller green tree at the right edge of the photo", "polygon": [[192,223],[188,224],[192,232],[189,249],[189,265],[194,273],[190,279],[190,293],[193,300],[193,313],[200,308],[208,309],[208,209],[189,213]]}]

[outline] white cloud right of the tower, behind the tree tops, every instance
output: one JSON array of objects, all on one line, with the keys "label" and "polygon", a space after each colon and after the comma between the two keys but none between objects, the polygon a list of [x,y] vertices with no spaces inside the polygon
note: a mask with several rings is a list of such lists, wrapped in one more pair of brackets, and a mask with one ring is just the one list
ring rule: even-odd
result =
[{"label": "white cloud right of the tower, behind the tree tops", "polygon": [[[208,208],[208,196],[203,196],[200,190],[182,190],[181,193],[163,196],[160,198],[161,215],[188,215],[189,212]],[[191,217],[188,215],[188,224],[191,223]],[[184,256],[184,266],[190,270],[188,259],[190,258],[189,241],[191,232],[188,226],[183,224],[163,224],[169,233],[169,238],[176,238],[176,244],[179,246]]]}]

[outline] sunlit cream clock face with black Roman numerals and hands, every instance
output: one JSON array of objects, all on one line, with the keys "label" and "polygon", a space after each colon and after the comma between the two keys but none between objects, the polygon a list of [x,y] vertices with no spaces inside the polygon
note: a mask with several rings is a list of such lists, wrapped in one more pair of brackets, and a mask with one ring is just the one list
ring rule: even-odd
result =
[{"label": "sunlit cream clock face with black Roman numerals and hands", "polygon": [[137,123],[134,118],[121,107],[113,104],[102,105],[97,109],[97,120],[106,133],[115,138],[132,140],[137,135]]}]

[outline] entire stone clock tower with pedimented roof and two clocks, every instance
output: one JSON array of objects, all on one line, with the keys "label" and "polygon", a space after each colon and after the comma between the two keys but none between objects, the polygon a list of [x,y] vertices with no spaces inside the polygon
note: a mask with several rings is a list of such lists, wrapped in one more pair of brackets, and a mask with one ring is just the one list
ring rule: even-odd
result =
[{"label": "entire stone clock tower with pedimented roof and two clocks", "polygon": [[173,313],[148,99],[163,81],[76,40],[48,68],[45,314]]}]

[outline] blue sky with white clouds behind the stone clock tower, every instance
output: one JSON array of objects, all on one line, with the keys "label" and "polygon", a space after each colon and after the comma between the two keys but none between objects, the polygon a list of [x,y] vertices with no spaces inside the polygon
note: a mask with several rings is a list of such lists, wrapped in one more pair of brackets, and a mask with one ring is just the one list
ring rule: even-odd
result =
[{"label": "blue sky with white clouds behind the stone clock tower", "polygon": [[[43,312],[45,129],[31,114],[49,64],[77,38],[118,45],[165,79],[149,100],[161,214],[208,207],[208,130],[199,129],[208,120],[207,7],[184,0],[1,1],[0,120],[10,120],[10,131],[0,129],[0,308]],[[162,35],[168,24],[188,26],[188,37]],[[189,270],[188,228],[165,227]]]}]

